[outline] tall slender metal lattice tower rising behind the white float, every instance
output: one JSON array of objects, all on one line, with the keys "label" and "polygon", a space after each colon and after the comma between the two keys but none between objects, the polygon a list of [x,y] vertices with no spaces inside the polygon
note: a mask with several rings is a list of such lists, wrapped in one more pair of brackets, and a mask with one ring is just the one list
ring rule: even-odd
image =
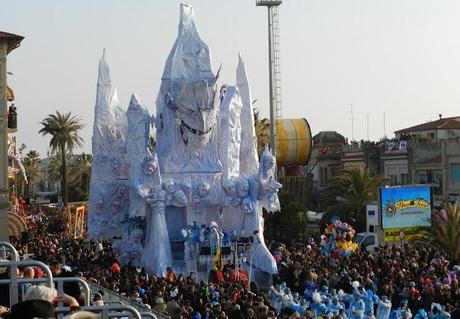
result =
[{"label": "tall slender metal lattice tower rising behind the white float", "polygon": [[270,85],[270,144],[276,157],[276,119],[281,118],[281,57],[278,6],[282,0],[256,0],[268,9],[268,65]]}]

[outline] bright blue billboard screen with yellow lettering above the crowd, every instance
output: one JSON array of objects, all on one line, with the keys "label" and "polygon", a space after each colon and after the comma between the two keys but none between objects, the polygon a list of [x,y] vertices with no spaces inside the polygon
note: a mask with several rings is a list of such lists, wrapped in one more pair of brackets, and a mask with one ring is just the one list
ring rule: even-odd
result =
[{"label": "bright blue billboard screen with yellow lettering above the crowd", "polygon": [[380,188],[382,228],[430,227],[432,202],[430,186]]}]

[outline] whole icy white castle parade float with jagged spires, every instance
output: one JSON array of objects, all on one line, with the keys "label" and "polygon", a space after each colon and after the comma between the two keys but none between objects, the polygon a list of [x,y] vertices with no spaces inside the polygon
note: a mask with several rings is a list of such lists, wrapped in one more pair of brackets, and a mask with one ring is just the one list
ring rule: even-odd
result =
[{"label": "whole icy white castle parade float with jagged spires", "polygon": [[230,246],[253,237],[251,262],[276,273],[262,210],[279,210],[281,185],[268,150],[259,164],[245,66],[240,57],[236,85],[218,90],[219,71],[212,71],[193,9],[180,8],[155,115],[136,95],[125,111],[112,89],[105,52],[99,62],[89,237],[114,240],[122,263],[158,274],[175,265],[196,271],[200,251],[212,248],[216,238]]}]

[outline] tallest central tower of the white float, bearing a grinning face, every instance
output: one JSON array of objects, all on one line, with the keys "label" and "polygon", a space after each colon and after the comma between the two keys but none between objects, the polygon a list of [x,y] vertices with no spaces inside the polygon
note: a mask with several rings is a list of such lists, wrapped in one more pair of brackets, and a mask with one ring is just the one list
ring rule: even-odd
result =
[{"label": "tallest central tower of the white float, bearing a grinning face", "polygon": [[181,4],[179,33],[165,64],[156,100],[156,151],[162,172],[222,170],[217,153],[217,75],[193,9]]}]

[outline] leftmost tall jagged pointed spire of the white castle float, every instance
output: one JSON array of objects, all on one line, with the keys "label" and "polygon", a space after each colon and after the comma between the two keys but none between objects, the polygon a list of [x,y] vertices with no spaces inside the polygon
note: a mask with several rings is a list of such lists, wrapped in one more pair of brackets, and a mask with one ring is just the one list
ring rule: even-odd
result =
[{"label": "leftmost tall jagged pointed spire of the white castle float", "polygon": [[[99,61],[96,104],[94,107],[94,125],[92,151],[94,162],[91,166],[88,237],[90,239],[111,239],[121,236],[119,224],[127,214],[127,201],[113,198],[115,179],[126,179],[125,138],[114,135],[115,127],[126,122],[121,117],[117,122],[115,113],[121,110],[116,90],[112,88],[110,69],[105,60],[105,50]],[[121,150],[121,151],[120,151]],[[114,157],[113,155],[116,154]],[[114,161],[115,160],[115,161]],[[101,196],[102,194],[102,196]],[[113,215],[117,215],[113,218]]]}]

